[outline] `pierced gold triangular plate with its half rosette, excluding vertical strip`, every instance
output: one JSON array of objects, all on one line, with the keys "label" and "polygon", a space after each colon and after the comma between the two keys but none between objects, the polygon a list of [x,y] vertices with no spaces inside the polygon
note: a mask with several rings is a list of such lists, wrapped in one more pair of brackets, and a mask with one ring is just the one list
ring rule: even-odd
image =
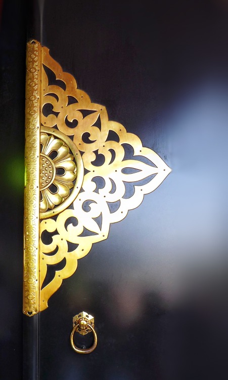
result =
[{"label": "pierced gold triangular plate with its half rosette, excluding vertical strip", "polygon": [[[139,137],[109,121],[106,108],[77,88],[73,76],[63,72],[46,47],[42,47],[40,109],[40,162],[44,163],[40,170],[48,174],[40,177],[42,311],[63,279],[75,272],[77,260],[94,243],[107,239],[110,224],[138,207],[171,170],[153,150],[142,146]],[[51,157],[53,151],[61,162]],[[57,167],[65,170],[62,178]],[[48,177],[47,186],[43,177]],[[57,194],[51,194],[52,184],[58,187]],[[48,281],[49,265],[64,260],[64,267]]]}]

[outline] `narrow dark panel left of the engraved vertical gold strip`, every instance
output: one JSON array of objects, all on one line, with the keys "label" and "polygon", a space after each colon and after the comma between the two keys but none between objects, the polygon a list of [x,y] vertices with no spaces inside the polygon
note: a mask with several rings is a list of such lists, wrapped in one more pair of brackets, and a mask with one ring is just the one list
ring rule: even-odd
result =
[{"label": "narrow dark panel left of the engraved vertical gold strip", "polygon": [[0,378],[20,380],[26,44],[23,2],[10,0],[3,7],[1,2],[0,18]]}]

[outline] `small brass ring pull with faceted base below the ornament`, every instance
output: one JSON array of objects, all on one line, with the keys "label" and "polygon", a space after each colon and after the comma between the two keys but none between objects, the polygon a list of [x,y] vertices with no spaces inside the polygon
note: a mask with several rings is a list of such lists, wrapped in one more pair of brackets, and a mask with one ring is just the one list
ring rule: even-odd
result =
[{"label": "small brass ring pull with faceted base below the ornament", "polygon": [[[85,335],[89,332],[93,332],[94,334],[93,346],[88,349],[80,349],[76,347],[73,341],[75,331],[81,335]],[[73,317],[73,330],[70,334],[70,343],[71,343],[72,349],[76,351],[78,354],[89,354],[90,352],[93,352],[96,349],[98,338],[97,338],[97,333],[94,328],[94,317],[92,315],[89,315],[86,312],[81,312]]]}]

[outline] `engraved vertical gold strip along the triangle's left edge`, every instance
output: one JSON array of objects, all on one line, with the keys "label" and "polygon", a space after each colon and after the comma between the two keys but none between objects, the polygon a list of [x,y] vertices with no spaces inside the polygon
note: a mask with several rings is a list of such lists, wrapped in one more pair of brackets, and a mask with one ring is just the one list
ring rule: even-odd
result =
[{"label": "engraved vertical gold strip along the triangle's left edge", "polygon": [[23,313],[39,312],[39,151],[41,45],[27,43]]}]

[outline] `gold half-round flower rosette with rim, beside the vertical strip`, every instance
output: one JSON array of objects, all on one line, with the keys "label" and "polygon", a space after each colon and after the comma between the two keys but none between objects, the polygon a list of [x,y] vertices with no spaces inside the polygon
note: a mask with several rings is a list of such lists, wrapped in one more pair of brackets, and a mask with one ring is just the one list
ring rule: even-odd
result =
[{"label": "gold half-round flower rosette with rim, beside the vertical strip", "polygon": [[[40,219],[46,219],[66,209],[78,195],[83,181],[83,163],[72,140],[56,129],[51,131],[50,128],[41,127],[40,144]],[[72,154],[69,153],[70,149]],[[51,159],[53,152],[56,157]],[[63,173],[58,175],[59,169]],[[50,188],[52,184],[56,187],[56,193]]]}]

